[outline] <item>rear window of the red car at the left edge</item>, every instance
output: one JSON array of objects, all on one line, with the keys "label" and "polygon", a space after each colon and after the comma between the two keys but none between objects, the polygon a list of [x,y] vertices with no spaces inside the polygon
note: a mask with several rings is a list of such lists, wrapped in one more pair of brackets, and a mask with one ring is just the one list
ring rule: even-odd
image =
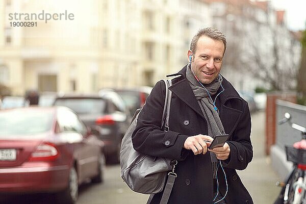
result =
[{"label": "rear window of the red car at the left edge", "polygon": [[0,138],[28,136],[51,130],[53,112],[34,110],[0,111]]}]

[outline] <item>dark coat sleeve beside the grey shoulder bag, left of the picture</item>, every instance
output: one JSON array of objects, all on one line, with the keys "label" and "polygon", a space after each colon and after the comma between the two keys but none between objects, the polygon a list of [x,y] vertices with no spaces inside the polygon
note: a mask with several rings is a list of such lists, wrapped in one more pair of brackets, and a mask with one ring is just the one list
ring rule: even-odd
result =
[{"label": "dark coat sleeve beside the grey shoulder bag, left of the picture", "polygon": [[138,116],[132,135],[134,149],[154,157],[184,160],[187,154],[183,146],[188,136],[171,131],[171,124],[168,132],[161,130],[164,103],[165,83],[159,81]]}]

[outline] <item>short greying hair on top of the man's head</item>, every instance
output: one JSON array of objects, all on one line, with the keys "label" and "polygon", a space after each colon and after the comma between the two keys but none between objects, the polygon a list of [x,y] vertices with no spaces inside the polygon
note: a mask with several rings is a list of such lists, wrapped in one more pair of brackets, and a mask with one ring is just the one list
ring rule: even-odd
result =
[{"label": "short greying hair on top of the man's head", "polygon": [[[192,38],[191,43],[190,43],[190,50],[192,53],[195,53],[196,51],[196,44],[201,36],[206,36],[214,40],[221,40],[224,44],[224,53],[226,50],[226,38],[225,34],[219,31],[218,29],[215,28],[206,28],[206,29],[200,29]],[[223,53],[223,55],[224,55]]]}]

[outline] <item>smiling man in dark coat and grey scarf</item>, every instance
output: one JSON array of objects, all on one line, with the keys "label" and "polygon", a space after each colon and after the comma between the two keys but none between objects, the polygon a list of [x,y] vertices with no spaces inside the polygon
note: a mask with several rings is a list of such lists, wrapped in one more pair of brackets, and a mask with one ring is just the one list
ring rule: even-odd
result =
[{"label": "smiling man in dark coat and grey scarf", "polygon": [[[174,75],[169,131],[160,128],[165,85],[158,82],[146,100],[132,140],[144,154],[176,159],[177,174],[168,203],[253,203],[236,169],[252,160],[248,105],[219,73],[226,39],[217,29],[200,30],[188,50],[190,63]],[[216,135],[230,137],[208,149]],[[162,193],[151,204],[160,203]]]}]

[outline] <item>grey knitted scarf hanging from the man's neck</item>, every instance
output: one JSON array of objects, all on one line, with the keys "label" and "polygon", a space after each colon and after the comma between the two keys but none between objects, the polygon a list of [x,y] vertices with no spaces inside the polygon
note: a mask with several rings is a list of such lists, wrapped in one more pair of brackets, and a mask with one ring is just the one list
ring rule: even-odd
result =
[{"label": "grey knitted scarf hanging from the man's neck", "polygon": [[[189,85],[198,101],[201,111],[207,121],[208,135],[214,138],[216,135],[224,134],[224,127],[219,117],[219,113],[215,111],[213,101],[209,97],[209,94],[215,95],[222,83],[222,77],[220,75],[220,82],[215,79],[212,83],[203,85],[203,88],[199,82],[195,79],[193,73],[190,70],[190,63],[187,66],[186,78],[189,81]],[[213,152],[210,152],[212,166],[213,166],[213,177],[216,178],[218,159]]]}]

